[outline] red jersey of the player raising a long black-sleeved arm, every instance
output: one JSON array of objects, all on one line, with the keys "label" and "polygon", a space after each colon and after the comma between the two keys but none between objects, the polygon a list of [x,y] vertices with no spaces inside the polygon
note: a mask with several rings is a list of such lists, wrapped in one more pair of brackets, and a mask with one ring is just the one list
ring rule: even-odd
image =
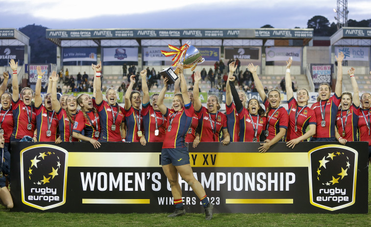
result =
[{"label": "red jersey of the player raising a long black-sleeved arm", "polygon": [[[242,108],[241,112],[238,113],[239,122],[240,122],[240,142],[252,142],[255,132],[254,127],[257,128],[256,139],[257,142],[260,142],[260,135],[263,133],[267,124],[267,118],[261,117],[258,115],[251,115],[251,118],[248,114],[246,108]],[[259,117],[259,120],[257,119]],[[258,121],[258,126],[256,127],[256,121]],[[254,124],[254,126],[252,125]]]}]

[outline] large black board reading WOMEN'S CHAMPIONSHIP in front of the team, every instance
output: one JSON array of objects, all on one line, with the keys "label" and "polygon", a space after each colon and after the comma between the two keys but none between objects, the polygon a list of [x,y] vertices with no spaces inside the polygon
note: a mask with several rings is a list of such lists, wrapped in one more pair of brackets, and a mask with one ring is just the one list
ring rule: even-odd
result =
[{"label": "large black board reading WOMEN'S CHAMPIONSHIP in front of the team", "polygon": [[[160,165],[162,143],[12,142],[12,211],[173,212]],[[367,213],[368,143],[188,145],[195,177],[215,213]],[[67,175],[68,170],[68,175]],[[67,180],[65,180],[67,178]],[[179,178],[187,212],[202,212]],[[65,201],[65,202],[62,202]]]}]

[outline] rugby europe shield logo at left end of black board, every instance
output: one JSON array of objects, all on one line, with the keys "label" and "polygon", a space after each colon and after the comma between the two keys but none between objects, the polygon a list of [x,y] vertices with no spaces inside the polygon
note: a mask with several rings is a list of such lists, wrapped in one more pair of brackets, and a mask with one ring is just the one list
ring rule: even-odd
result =
[{"label": "rugby europe shield logo at left end of black board", "polygon": [[68,151],[41,144],[21,151],[22,202],[47,210],[66,202]]}]

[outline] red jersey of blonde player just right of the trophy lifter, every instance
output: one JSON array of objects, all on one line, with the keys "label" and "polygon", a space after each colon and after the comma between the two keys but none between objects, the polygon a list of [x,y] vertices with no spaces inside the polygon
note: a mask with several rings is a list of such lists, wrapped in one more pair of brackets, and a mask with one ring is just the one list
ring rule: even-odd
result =
[{"label": "red jersey of blonde player just right of the trophy lifter", "polygon": [[[220,142],[219,134],[222,129],[227,128],[227,117],[222,112],[210,113],[211,123],[209,119],[209,111],[206,107],[202,106],[201,109],[196,111],[201,125],[200,142]],[[218,116],[217,116],[218,114]],[[215,123],[216,120],[216,123]],[[213,126],[211,126],[213,124]],[[212,127],[215,127],[215,133]],[[215,140],[214,138],[215,137]]]}]

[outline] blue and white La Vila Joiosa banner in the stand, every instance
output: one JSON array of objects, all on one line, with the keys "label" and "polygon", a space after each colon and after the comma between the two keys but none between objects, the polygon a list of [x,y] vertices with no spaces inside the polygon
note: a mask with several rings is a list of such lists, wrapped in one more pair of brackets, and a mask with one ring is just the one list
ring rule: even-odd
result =
[{"label": "blue and white La Vila Joiosa banner in the stand", "polygon": [[63,62],[97,61],[97,48],[63,48]]}]

